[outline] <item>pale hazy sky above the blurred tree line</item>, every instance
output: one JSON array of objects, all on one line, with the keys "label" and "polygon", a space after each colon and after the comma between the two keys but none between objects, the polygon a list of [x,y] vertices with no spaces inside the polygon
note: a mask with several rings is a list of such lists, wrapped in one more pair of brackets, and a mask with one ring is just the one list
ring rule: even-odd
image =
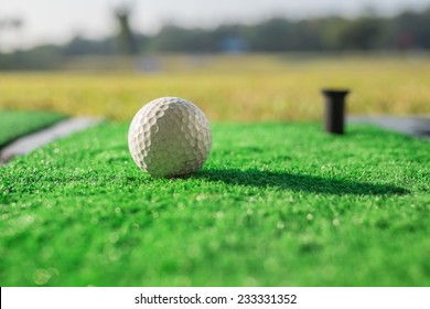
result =
[{"label": "pale hazy sky above the blurred tree line", "polygon": [[135,30],[151,34],[166,22],[211,28],[252,23],[271,17],[354,17],[366,8],[383,14],[430,7],[430,0],[0,0],[0,20],[21,18],[20,29],[0,29],[0,51],[62,44],[76,35],[103,38],[116,30],[112,8],[133,2]]}]

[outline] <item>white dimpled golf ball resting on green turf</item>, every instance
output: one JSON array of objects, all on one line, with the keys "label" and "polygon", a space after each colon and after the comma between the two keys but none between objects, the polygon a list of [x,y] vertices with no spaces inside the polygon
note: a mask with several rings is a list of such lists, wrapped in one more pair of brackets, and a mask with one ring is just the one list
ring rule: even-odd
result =
[{"label": "white dimpled golf ball resting on green turf", "polygon": [[136,114],[128,145],[138,167],[152,177],[184,175],[196,172],[206,161],[211,127],[191,102],[161,97]]}]

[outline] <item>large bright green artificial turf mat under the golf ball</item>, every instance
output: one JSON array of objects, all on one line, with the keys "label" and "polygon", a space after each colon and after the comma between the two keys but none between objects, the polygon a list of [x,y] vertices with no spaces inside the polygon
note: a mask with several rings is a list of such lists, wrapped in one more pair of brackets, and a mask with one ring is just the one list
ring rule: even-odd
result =
[{"label": "large bright green artificial turf mat under the golf ball", "polygon": [[151,179],[126,124],[0,169],[1,286],[430,286],[430,143],[366,126],[213,126]]}]

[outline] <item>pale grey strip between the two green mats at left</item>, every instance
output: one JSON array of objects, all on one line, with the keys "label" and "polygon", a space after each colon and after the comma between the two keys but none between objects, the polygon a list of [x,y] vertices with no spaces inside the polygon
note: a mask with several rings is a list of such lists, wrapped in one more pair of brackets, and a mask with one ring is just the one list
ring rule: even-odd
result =
[{"label": "pale grey strip between the two green mats at left", "polygon": [[60,121],[46,129],[35,131],[17,139],[3,149],[0,149],[0,164],[8,162],[15,156],[26,154],[58,138],[66,137],[75,131],[84,130],[101,121],[100,118],[69,118]]}]

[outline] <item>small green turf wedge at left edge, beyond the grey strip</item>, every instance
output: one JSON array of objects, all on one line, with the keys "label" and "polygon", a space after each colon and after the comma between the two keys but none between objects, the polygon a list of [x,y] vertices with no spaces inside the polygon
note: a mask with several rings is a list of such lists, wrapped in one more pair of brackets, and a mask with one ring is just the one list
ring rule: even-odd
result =
[{"label": "small green turf wedge at left edge, beyond the grey strip", "polygon": [[65,116],[51,111],[11,111],[0,110],[0,149],[8,142],[49,127]]}]

